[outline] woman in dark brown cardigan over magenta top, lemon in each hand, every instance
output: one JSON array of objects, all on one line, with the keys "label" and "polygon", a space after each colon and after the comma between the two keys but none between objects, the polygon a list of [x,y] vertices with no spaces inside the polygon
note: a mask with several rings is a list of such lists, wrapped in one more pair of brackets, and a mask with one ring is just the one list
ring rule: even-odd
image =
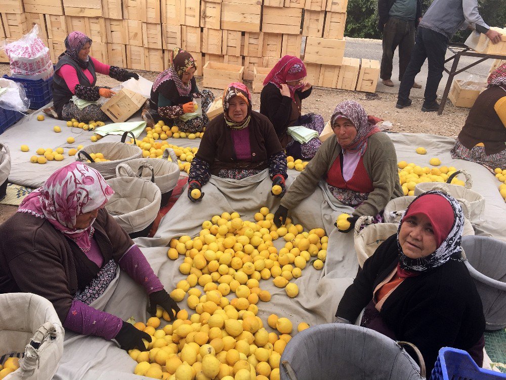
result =
[{"label": "woman in dark brown cardigan over magenta top, lemon in each hand", "polygon": [[[223,117],[209,122],[188,178],[188,198],[201,201],[201,188],[211,174],[243,179],[269,169],[273,194],[285,192],[286,155],[269,119],[251,110],[251,94],[242,83],[223,93]],[[276,191],[278,189],[278,191]]]}]

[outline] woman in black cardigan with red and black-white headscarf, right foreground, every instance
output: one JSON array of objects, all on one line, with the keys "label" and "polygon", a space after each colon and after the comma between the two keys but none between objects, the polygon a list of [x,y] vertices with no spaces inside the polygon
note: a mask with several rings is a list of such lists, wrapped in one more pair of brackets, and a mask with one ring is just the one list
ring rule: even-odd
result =
[{"label": "woman in black cardigan with red and black-white headscarf, right foreground", "polygon": [[460,247],[464,217],[442,192],[418,196],[397,234],[369,257],[346,289],[336,321],[354,323],[394,340],[409,341],[431,373],[442,347],[466,350],[483,363],[485,317]]}]

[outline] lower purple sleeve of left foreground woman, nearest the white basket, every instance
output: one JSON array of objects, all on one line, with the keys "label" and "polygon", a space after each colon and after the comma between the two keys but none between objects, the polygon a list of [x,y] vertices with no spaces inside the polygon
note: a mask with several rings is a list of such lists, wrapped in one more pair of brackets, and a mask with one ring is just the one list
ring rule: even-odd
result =
[{"label": "lower purple sleeve of left foreground woman, nearest the white basket", "polygon": [[63,326],[82,335],[102,336],[110,340],[121,329],[123,321],[81,301],[72,301]]}]

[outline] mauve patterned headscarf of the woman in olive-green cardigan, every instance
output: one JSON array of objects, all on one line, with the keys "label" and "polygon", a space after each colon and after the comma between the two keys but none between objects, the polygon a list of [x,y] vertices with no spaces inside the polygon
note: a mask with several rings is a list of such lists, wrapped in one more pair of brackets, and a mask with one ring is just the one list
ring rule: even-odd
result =
[{"label": "mauve patterned headscarf of the woman in olive-green cardigan", "polygon": [[360,156],[362,156],[367,148],[367,139],[369,136],[380,131],[375,124],[378,119],[368,118],[365,109],[353,100],[346,100],[339,103],[334,108],[332,116],[330,117],[330,126],[332,127],[334,125],[334,121],[339,118],[346,118],[350,120],[357,130],[357,135],[352,142],[347,145],[340,144],[341,148],[348,150],[360,150]]}]

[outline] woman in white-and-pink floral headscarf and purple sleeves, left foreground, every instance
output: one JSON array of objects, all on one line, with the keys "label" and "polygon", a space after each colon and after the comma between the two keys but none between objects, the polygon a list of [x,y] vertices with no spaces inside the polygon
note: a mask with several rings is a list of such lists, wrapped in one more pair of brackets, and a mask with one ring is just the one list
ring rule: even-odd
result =
[{"label": "woman in white-and-pink floral headscarf and purple sleeves, left foreground", "polygon": [[74,162],[54,172],[25,197],[0,226],[0,293],[43,296],[66,329],[116,339],[124,350],[145,349],[150,336],[93,302],[114,291],[125,271],[156,306],[179,311],[144,254],[104,209],[114,194],[102,175]]}]

